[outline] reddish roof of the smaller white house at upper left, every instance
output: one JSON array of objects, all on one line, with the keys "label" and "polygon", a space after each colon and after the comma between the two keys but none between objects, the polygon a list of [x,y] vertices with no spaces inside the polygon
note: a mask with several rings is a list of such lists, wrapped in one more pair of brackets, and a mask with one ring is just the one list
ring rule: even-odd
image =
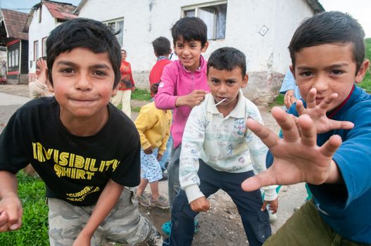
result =
[{"label": "reddish roof of the smaller white house at upper left", "polygon": [[58,1],[42,0],[39,2],[39,4],[35,4],[32,7],[30,13],[28,14],[28,18],[23,29],[24,32],[28,32],[28,28],[30,27],[32,18],[34,16],[34,11],[37,11],[37,9],[39,9],[40,6],[42,6],[42,4],[46,6],[51,16],[56,18],[58,21],[71,20],[73,18],[78,17],[73,13],[73,11],[75,11],[76,8],[76,6],[74,6],[73,4],[60,3]]}]

